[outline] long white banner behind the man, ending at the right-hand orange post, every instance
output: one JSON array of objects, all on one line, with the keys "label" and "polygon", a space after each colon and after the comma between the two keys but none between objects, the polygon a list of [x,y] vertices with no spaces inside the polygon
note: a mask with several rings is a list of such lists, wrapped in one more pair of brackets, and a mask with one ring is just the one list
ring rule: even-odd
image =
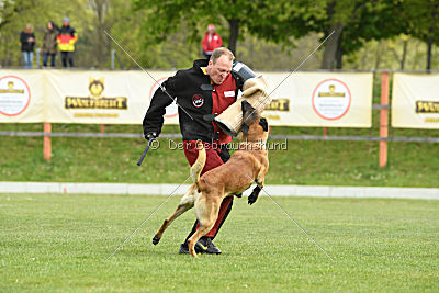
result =
[{"label": "long white banner behind the man, ending at the right-hand orange post", "polygon": [[[175,75],[149,74],[159,82]],[[371,126],[372,74],[295,72],[283,82],[289,72],[258,74],[274,90],[270,125]],[[0,70],[0,122],[140,124],[157,88],[135,70]],[[176,104],[165,123],[178,123]]]}]

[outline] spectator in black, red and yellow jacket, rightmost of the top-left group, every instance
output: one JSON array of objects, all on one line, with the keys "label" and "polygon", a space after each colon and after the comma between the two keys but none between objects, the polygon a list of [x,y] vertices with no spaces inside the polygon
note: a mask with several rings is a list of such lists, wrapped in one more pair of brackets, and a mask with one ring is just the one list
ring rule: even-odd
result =
[{"label": "spectator in black, red and yellow jacket, rightmost of the top-left group", "polygon": [[78,41],[78,36],[75,29],[70,26],[69,18],[66,16],[63,19],[63,27],[59,30],[56,41],[61,52],[63,67],[67,67],[67,61],[70,67],[74,67],[75,43]]}]

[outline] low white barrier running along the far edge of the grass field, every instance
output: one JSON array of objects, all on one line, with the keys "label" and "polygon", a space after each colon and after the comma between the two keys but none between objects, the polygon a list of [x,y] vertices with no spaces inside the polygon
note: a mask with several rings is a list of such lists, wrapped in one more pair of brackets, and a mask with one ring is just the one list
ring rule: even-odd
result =
[{"label": "low white barrier running along the far edge of the grass field", "polygon": [[[69,183],[69,182],[0,182],[0,193],[65,193],[65,194],[119,194],[182,195],[189,184],[133,184],[133,183]],[[350,199],[414,199],[439,200],[439,189],[432,188],[376,188],[376,187],[311,187],[267,185],[273,196],[315,196]],[[249,195],[251,189],[244,192]],[[264,196],[263,192],[261,196]]]}]

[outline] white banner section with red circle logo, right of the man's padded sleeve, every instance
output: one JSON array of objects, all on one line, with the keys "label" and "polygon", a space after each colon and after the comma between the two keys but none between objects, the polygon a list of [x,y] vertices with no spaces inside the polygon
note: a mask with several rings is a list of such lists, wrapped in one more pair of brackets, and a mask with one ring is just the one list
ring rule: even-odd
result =
[{"label": "white banner section with red circle logo, right of the man's padded sleeve", "polygon": [[270,125],[372,126],[372,74],[295,72],[283,83],[288,74],[264,76],[274,90],[263,112]]}]

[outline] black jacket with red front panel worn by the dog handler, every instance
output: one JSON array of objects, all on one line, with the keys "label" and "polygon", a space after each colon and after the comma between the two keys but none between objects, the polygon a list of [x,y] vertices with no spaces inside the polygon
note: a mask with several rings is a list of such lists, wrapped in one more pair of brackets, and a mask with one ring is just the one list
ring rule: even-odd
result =
[{"label": "black jacket with red front panel worn by the dog handler", "polygon": [[[233,104],[243,84],[232,74],[222,84],[211,84],[210,77],[201,69],[206,67],[207,63],[205,59],[195,60],[192,68],[178,70],[162,86],[172,98],[177,97],[183,140],[201,139],[207,143],[227,144],[232,142],[232,137],[213,123],[212,114],[221,114]],[[165,108],[171,103],[171,98],[160,88],[157,89],[143,122],[145,135],[148,133],[158,135],[161,132]]]}]

